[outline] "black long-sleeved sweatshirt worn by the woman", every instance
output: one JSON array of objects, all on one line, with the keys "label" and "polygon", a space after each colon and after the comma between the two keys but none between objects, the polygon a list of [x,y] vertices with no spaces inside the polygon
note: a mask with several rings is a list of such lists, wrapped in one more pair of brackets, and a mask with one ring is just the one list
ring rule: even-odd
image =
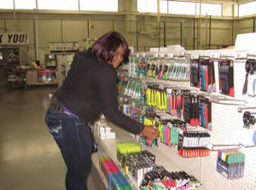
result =
[{"label": "black long-sleeved sweatshirt worn by the woman", "polygon": [[113,124],[140,134],[143,124],[118,109],[117,73],[106,61],[98,60],[91,49],[74,55],[73,63],[55,97],[70,112],[93,123],[103,113]]}]

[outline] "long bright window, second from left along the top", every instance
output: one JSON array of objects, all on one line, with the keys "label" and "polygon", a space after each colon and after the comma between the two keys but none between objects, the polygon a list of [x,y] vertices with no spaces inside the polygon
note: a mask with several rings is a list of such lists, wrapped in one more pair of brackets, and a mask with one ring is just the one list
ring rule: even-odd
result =
[{"label": "long bright window, second from left along the top", "polygon": [[79,10],[78,0],[38,0],[38,9]]}]

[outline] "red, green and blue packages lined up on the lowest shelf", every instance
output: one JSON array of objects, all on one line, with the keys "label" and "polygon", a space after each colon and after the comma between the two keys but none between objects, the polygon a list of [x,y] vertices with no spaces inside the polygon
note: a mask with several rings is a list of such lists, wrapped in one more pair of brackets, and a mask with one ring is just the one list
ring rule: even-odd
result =
[{"label": "red, green and blue packages lined up on the lowest shelf", "polygon": [[100,156],[99,162],[102,173],[108,181],[108,189],[133,190],[113,160]]}]

